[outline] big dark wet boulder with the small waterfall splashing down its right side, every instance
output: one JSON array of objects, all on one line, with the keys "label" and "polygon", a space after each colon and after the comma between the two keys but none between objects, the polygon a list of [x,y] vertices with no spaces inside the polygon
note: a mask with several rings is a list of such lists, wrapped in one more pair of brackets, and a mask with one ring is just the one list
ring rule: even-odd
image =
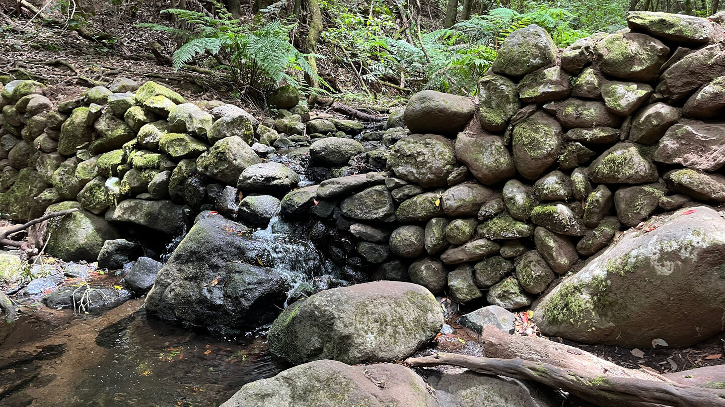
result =
[{"label": "big dark wet boulder with the small waterfall splashing down its right side", "polygon": [[[221,215],[200,214],[159,271],[146,297],[149,314],[215,332],[236,333],[271,322],[291,288],[282,274],[283,259],[273,256],[284,250],[273,247],[272,240],[260,243],[250,232]],[[321,265],[305,267],[311,274]]]}]

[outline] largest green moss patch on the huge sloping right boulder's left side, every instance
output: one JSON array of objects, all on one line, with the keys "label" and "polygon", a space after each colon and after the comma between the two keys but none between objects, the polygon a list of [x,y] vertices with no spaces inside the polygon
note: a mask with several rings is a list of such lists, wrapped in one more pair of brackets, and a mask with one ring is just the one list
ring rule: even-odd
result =
[{"label": "largest green moss patch on the huge sloping right boulder's left side", "polygon": [[544,308],[544,317],[553,324],[589,324],[597,318],[596,310],[608,288],[605,277],[590,282],[562,282]]}]

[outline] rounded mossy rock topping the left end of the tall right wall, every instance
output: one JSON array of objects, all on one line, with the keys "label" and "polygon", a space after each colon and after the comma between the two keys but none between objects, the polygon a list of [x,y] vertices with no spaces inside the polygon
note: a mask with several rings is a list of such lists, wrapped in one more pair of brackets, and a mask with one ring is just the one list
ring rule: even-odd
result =
[{"label": "rounded mossy rock topping the left end of the tall right wall", "polygon": [[554,64],[556,50],[549,33],[532,24],[506,37],[491,68],[504,75],[526,75]]}]

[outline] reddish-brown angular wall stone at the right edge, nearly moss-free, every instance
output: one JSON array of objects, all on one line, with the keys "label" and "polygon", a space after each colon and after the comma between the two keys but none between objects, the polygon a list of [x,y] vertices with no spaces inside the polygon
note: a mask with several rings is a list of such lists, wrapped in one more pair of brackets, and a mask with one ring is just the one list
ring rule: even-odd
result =
[{"label": "reddish-brown angular wall stone at the right edge, nearly moss-free", "polygon": [[715,171],[725,164],[723,144],[725,122],[682,122],[667,130],[653,158],[666,164]]}]

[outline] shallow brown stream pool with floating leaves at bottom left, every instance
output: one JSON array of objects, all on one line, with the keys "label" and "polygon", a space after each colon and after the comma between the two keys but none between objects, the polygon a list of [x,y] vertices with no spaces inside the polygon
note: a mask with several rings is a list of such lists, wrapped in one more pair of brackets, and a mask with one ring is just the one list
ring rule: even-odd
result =
[{"label": "shallow brown stream pool with floating leaves at bottom left", "polygon": [[147,319],[41,309],[0,326],[0,406],[218,406],[286,369],[261,332],[220,338]]}]

